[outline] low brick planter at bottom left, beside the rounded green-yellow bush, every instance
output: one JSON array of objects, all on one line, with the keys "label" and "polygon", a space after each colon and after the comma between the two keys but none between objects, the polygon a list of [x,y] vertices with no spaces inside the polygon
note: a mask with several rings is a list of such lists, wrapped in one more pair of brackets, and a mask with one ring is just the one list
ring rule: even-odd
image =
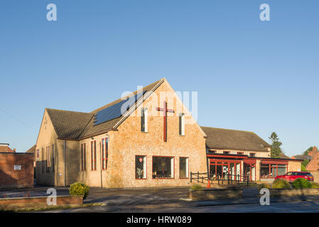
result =
[{"label": "low brick planter at bottom left, beside the rounded green-yellow bush", "polygon": [[[0,209],[8,208],[45,208],[54,205],[47,204],[48,196],[5,198],[0,199]],[[83,196],[57,196],[57,205],[80,205],[83,204]]]}]

